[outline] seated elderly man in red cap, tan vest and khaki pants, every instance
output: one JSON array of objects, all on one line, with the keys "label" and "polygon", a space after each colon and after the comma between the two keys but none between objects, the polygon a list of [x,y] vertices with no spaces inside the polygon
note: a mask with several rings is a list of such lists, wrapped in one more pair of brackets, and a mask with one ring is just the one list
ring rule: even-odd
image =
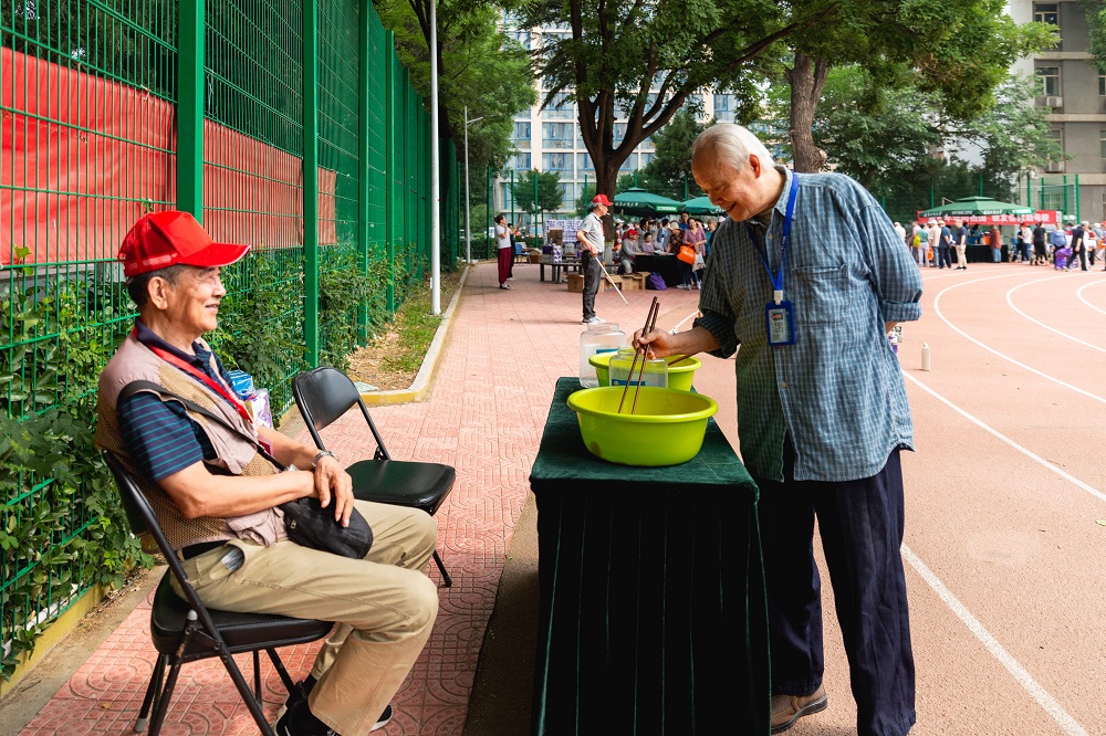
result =
[{"label": "seated elderly man in red cap, tan vest and khaki pants", "polygon": [[[355,501],[333,454],[255,425],[236,399],[202,335],[218,326],[220,269],[248,250],[213,243],[186,212],[147,214],[127,233],[118,257],[138,320],[101,376],[96,443],[138,479],[205,603],[338,623],[276,733],[366,734],[392,717],[437,617],[437,588],[420,571],[437,525],[421,511]],[[136,380],[165,392],[124,392]],[[374,534],[364,559],[288,538],[278,506],[309,496],[343,525],[361,512]]]}]

